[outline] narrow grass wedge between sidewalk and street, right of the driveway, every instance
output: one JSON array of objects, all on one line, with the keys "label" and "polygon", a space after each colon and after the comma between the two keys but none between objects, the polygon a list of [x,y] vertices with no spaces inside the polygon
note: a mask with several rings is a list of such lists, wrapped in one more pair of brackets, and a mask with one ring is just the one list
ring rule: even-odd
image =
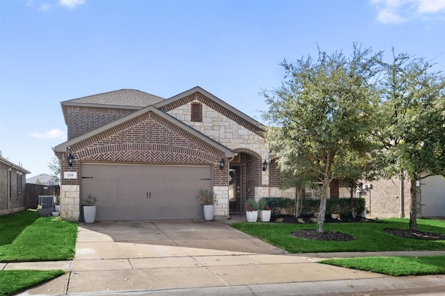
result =
[{"label": "narrow grass wedge between sidewalk and street, right of the driveway", "polygon": [[394,277],[445,274],[445,256],[339,258],[319,263],[378,272]]}]

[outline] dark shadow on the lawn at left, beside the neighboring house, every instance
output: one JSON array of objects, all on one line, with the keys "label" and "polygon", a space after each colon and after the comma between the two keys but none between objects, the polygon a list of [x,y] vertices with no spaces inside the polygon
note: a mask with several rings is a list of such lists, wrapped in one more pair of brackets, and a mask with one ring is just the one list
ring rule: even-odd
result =
[{"label": "dark shadow on the lawn at left, beside the neighboring house", "polygon": [[10,245],[26,227],[37,219],[36,211],[22,211],[0,216],[0,245]]}]

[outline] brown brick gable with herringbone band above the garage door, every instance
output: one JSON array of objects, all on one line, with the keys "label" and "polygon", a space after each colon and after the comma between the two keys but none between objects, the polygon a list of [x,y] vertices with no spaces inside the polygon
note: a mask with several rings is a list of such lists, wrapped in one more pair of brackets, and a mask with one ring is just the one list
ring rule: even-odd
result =
[{"label": "brown brick gable with herringbone band above the garage door", "polygon": [[215,147],[154,113],[145,113],[72,147],[82,161],[215,163]]}]

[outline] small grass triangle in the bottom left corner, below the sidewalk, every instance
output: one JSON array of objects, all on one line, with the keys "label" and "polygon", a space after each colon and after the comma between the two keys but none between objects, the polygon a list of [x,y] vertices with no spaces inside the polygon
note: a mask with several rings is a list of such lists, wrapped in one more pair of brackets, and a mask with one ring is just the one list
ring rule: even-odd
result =
[{"label": "small grass triangle in the bottom left corner, below the sidewalk", "polygon": [[14,295],[29,287],[60,277],[63,270],[2,270],[0,271],[0,296]]}]

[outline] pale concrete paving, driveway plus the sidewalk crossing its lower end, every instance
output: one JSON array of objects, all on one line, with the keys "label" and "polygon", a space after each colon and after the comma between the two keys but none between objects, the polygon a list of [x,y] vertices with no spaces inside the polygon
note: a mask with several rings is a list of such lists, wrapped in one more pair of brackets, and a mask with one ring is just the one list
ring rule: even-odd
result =
[{"label": "pale concrete paving, driveway plus the sidewalk crossing its lower end", "polygon": [[391,290],[440,295],[445,276],[394,278],[316,263],[331,257],[433,254],[445,251],[294,255],[224,222],[127,221],[80,223],[72,261],[0,268],[68,271],[23,295],[390,295]]}]

